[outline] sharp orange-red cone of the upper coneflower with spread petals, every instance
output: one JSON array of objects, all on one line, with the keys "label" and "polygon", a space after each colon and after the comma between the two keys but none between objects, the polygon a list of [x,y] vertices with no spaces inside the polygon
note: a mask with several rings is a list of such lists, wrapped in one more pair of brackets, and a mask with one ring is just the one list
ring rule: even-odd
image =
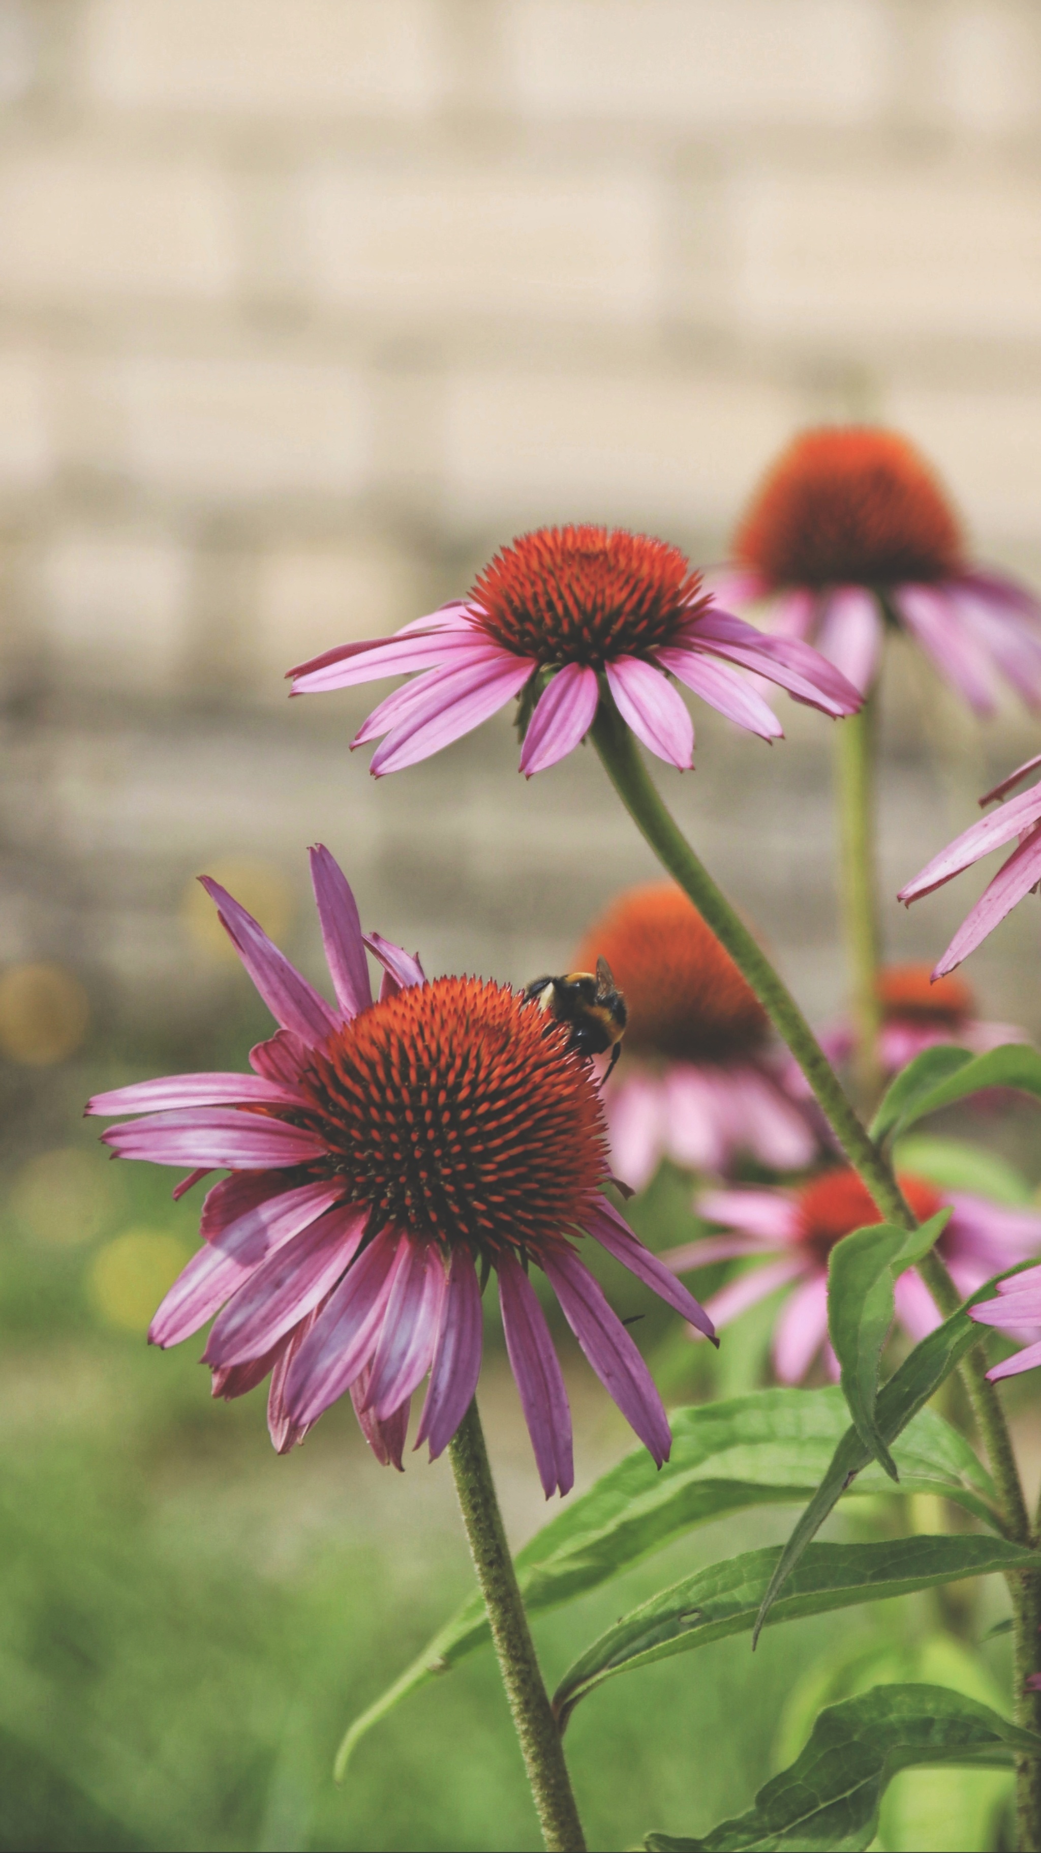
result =
[{"label": "sharp orange-red cone of the upper coneflower with spread petals", "polygon": [[704,610],[678,547],[624,528],[539,528],[502,547],[469,597],[515,656],[587,663],[645,656]]}]

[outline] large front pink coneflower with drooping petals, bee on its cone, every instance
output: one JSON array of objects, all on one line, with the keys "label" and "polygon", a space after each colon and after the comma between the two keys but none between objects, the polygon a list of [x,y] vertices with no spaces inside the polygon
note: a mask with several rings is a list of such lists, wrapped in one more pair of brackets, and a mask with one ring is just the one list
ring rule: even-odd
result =
[{"label": "large front pink coneflower with drooping petals, bee on its cone", "polygon": [[[415,1445],[452,1440],[482,1360],[482,1286],[498,1275],[506,1347],[546,1497],[572,1484],[571,1414],[528,1277],[550,1280],[589,1364],[654,1460],[671,1434],[646,1364],[574,1251],[593,1236],[706,1336],[702,1308],[604,1199],[606,1127],[567,1027],[508,986],[424,978],[365,936],[328,849],[311,876],[335,1008],[217,882],[204,880],[280,1028],[252,1075],[174,1075],[96,1095],[144,1108],[102,1134],[126,1158],[232,1173],[150,1329],[174,1345],[213,1314],[204,1362],[233,1397],[270,1371],[280,1453],[350,1390],[380,1460],[402,1464],[409,1399],[430,1373]],[[383,965],[372,1002],[369,947]],[[480,1269],[480,1279],[478,1279]],[[224,1310],[220,1310],[224,1308]]]}]

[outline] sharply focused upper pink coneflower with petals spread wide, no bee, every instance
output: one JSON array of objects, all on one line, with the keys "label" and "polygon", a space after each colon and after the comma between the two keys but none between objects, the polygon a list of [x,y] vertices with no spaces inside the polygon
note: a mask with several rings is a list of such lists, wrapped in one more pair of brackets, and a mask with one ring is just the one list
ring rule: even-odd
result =
[{"label": "sharply focused upper pink coneflower with petals spread wide, no bee", "polygon": [[678,547],[622,528],[539,528],[504,547],[469,599],[393,637],[345,643],[291,669],[295,695],[422,671],[369,715],[354,737],[385,736],[372,773],[396,773],[469,734],[524,691],[522,773],[578,747],[600,678],[645,747],[682,769],[695,730],[676,676],[730,721],[776,739],[776,715],[730,667],[754,669],[796,700],[839,719],[859,697],[806,643],[763,637],[721,611]]}]

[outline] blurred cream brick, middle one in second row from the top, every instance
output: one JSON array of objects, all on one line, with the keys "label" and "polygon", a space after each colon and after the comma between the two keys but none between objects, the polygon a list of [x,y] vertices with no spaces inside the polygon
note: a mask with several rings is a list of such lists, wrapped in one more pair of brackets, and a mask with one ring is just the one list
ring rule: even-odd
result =
[{"label": "blurred cream brick, middle one in second row from the top", "polygon": [[311,287],[419,326],[443,317],[650,317],[659,187],[639,169],[470,165],[315,172]]}]

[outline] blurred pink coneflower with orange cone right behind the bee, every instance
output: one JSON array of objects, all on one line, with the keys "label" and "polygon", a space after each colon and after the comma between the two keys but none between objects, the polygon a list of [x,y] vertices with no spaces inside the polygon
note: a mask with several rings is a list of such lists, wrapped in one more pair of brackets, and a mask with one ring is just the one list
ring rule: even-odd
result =
[{"label": "blurred pink coneflower with orange cone right behind the bee", "polygon": [[763,1006],[674,882],[630,888],[596,919],[576,965],[602,956],[621,986],[624,1054],[604,1088],[611,1164],[641,1190],[672,1158],[726,1171],[750,1153],[808,1166],[817,1138],[780,1080]]}]

